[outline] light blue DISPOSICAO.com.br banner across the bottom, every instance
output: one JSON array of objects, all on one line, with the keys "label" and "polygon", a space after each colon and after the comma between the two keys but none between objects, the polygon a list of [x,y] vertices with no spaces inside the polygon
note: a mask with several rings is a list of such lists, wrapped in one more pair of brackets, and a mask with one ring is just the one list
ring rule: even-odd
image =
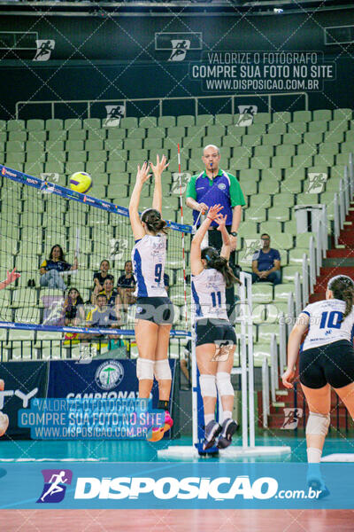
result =
[{"label": "light blue DISPOSICAO.com.br banner across the bottom", "polygon": [[1,509],[353,508],[354,463],[322,464],[326,490],[309,486],[314,472],[299,463],[4,463],[0,472]]}]

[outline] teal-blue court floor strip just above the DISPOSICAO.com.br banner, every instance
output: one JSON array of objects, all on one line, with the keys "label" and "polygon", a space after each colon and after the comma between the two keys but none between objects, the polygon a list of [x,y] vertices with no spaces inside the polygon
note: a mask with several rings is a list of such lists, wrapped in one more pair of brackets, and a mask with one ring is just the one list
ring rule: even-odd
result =
[{"label": "teal-blue court floor strip just above the DISPOSICAO.com.br banner", "polygon": [[[279,431],[280,432],[280,431]],[[282,433],[282,431],[281,431]],[[350,434],[352,435],[352,434]],[[15,440],[0,442],[0,463],[26,461],[99,461],[99,462],[157,462],[166,461],[158,458],[157,451],[169,445],[191,445],[191,438],[183,437],[173,442],[164,440],[158,443],[145,441],[28,441]],[[241,446],[241,438],[235,440]],[[291,454],[281,457],[265,458],[232,458],[237,462],[305,462],[306,445],[304,434],[287,436],[277,434],[273,436],[258,436],[256,445],[288,445]],[[354,453],[354,438],[345,434],[329,435],[327,437],[323,456],[331,453]],[[167,461],[174,461],[169,458]],[[190,458],[190,461],[204,461],[205,459],[226,461],[227,458]],[[230,459],[230,458],[228,458]],[[189,461],[181,458],[181,461]]]}]

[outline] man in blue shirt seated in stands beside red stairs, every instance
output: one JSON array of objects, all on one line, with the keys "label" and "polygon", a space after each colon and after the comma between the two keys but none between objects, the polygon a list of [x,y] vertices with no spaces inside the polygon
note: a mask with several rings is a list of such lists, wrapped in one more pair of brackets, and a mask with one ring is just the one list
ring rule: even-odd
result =
[{"label": "man in blue shirt seated in stands beside red stairs", "polygon": [[268,234],[261,235],[262,249],[252,257],[252,283],[266,282],[279,285],[281,283],[281,254],[271,247]]}]

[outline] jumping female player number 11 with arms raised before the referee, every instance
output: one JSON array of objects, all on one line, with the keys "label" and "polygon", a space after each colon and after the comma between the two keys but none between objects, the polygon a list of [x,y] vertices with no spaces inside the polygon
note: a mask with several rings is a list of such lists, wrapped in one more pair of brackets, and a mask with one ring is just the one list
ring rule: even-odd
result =
[{"label": "jumping female player number 11 with arms raised before the referee", "polygon": [[[228,265],[231,241],[225,227],[227,216],[219,214],[221,209],[219,205],[209,209],[190,248],[192,293],[196,304],[196,363],[204,403],[204,450],[211,448],[218,436],[217,446],[225,449],[238,428],[232,419],[235,393],[230,379],[236,335],[228,321],[225,297],[226,288],[238,279]],[[213,247],[201,250],[213,220],[219,224],[218,231],[222,235],[220,254]],[[217,391],[222,403],[222,425],[215,420]]]}]

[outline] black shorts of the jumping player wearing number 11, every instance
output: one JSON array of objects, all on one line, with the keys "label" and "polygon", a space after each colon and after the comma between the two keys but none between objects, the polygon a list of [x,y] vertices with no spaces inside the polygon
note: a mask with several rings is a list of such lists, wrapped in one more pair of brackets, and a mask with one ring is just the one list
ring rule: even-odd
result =
[{"label": "black shorts of the jumping player wearing number 11", "polygon": [[196,346],[206,343],[232,345],[236,343],[234,327],[227,319],[205,318],[196,322]]}]

